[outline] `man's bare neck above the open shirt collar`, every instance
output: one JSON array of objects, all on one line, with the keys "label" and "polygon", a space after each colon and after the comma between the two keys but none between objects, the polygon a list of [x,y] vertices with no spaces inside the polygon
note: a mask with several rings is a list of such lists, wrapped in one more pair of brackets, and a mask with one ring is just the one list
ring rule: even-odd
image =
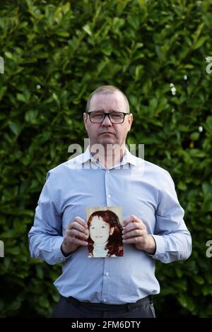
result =
[{"label": "man's bare neck above the open shirt collar", "polygon": [[90,153],[107,169],[117,165],[123,159],[125,144],[122,146],[118,144],[107,144],[107,146],[102,146],[102,148],[98,149],[98,153],[96,153],[96,148],[93,147],[94,146],[90,147]]}]

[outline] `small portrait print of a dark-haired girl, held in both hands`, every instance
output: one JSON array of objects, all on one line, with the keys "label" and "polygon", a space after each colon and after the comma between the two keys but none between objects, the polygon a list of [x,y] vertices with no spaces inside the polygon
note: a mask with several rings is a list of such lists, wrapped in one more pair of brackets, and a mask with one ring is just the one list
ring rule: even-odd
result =
[{"label": "small portrait print of a dark-haired girl, held in both hands", "polygon": [[87,208],[89,258],[124,256],[122,225],[119,221],[121,211],[119,206]]}]

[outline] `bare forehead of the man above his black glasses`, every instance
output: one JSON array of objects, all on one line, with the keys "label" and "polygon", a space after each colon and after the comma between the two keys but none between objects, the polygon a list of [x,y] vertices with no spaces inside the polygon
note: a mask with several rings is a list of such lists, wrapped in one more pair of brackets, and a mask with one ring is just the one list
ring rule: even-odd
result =
[{"label": "bare forehead of the man above his black glasses", "polygon": [[108,94],[94,95],[90,100],[90,112],[95,110],[126,110],[126,101],[124,96],[119,91]]}]

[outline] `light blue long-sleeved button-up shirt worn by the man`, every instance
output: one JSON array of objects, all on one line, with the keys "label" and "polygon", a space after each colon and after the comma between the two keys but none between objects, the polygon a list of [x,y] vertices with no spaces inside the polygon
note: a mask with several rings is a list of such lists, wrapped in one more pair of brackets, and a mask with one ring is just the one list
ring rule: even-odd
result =
[{"label": "light blue long-sleeved button-up shirt worn by the man", "polygon": [[[68,258],[61,253],[67,225],[79,216],[86,220],[86,206],[122,206],[123,220],[136,215],[153,235],[153,256],[124,244],[123,257],[88,258],[79,247]],[[155,260],[170,263],[187,259],[192,239],[184,224],[170,174],[126,150],[122,162],[110,170],[86,152],[47,173],[29,232],[30,253],[49,264],[63,262],[54,285],[64,297],[80,301],[124,304],[160,292]]]}]

